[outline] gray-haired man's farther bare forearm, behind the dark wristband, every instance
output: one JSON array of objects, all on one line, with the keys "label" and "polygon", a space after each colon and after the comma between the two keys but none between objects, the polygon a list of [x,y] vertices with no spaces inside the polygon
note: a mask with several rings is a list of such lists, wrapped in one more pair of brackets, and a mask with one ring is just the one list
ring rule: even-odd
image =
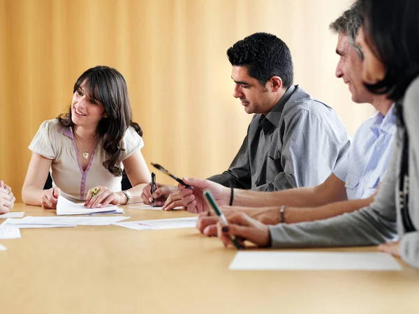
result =
[{"label": "gray-haired man's farther bare forearm, behind the dark wristband", "polygon": [[252,190],[234,190],[233,205],[245,207],[319,207],[328,200],[321,193],[316,193],[316,187],[293,188],[277,192],[258,192]]}]

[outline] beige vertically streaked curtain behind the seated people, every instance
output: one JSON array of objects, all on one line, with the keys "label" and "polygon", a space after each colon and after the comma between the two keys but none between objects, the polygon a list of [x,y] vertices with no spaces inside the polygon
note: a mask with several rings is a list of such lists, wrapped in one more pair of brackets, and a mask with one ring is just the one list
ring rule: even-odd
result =
[{"label": "beige vertically streaked curtain behind the seated people", "polygon": [[[291,48],[295,84],[349,132],[372,114],[335,77],[328,25],[350,0],[0,0],[0,178],[20,200],[38,126],[70,104],[87,68],[117,68],[147,162],[184,177],[226,170],[251,116],[233,98],[226,50],[256,31]],[[175,183],[157,174],[158,181]]]}]

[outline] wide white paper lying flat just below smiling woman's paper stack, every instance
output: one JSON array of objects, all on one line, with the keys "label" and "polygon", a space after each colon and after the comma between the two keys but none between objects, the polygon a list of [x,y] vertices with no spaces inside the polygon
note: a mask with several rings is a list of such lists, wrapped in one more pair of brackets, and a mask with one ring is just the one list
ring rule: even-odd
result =
[{"label": "wide white paper lying flat just below smiling woman's paper stack", "polygon": [[27,216],[22,219],[8,218],[1,225],[15,225],[20,228],[38,227],[75,227],[76,225],[112,225],[121,220],[128,219],[127,216],[108,216],[108,217],[32,217]]}]

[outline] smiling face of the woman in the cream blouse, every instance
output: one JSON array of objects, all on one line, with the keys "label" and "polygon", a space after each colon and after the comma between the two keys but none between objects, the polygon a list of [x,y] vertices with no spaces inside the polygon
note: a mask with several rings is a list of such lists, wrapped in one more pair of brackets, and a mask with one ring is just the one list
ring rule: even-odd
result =
[{"label": "smiling face of the woman in the cream blouse", "polygon": [[104,114],[103,104],[85,94],[83,82],[71,101],[71,120],[76,126],[96,128]]}]

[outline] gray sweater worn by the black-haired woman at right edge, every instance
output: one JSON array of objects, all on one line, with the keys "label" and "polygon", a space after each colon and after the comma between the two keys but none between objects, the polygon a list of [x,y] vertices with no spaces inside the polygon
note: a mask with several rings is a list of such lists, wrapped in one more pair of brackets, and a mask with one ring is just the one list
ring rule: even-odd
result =
[{"label": "gray sweater worn by the black-haired woman at right edge", "polygon": [[[419,230],[419,78],[406,91],[403,105],[410,135],[409,214],[414,227]],[[325,220],[270,226],[272,247],[371,246],[394,241],[399,236],[403,260],[419,268],[419,232],[405,232],[396,198],[403,139],[404,132],[398,130],[388,171],[369,207]]]}]

